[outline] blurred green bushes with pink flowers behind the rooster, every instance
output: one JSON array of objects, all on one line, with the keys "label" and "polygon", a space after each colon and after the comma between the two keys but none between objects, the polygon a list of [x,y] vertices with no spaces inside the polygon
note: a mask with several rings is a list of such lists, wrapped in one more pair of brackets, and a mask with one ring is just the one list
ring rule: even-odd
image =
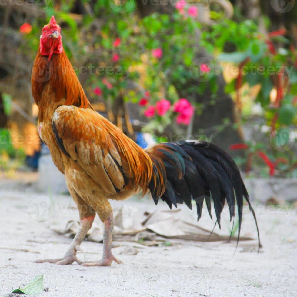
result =
[{"label": "blurred green bushes with pink flowers behind the rooster", "polygon": [[[260,175],[295,175],[294,150],[275,145],[284,135],[277,132],[281,127],[293,131],[287,144],[295,142],[297,124],[297,53],[285,28],[268,33],[272,25],[267,17],[246,19],[238,10],[237,21],[210,10],[209,22],[202,23],[199,3],[182,0],[166,14],[156,8],[141,15],[137,1],[122,6],[113,0],[79,3],[81,14],[75,13],[78,2],[68,1],[49,2],[42,11],[47,21],[55,15],[61,25],[64,48],[92,102],[105,100],[111,109],[119,98],[139,104],[149,120],[143,130],[157,134],[157,140],[166,140],[166,129],[176,135],[213,136],[226,127],[234,134],[257,122],[259,139],[246,139],[237,161],[247,173],[256,162],[264,168]],[[23,33],[26,42],[20,49],[32,59],[45,18],[34,18]],[[226,116],[212,130],[193,132],[194,117],[222,104],[222,76],[224,92],[235,102],[234,112],[229,111],[235,122]],[[197,99],[203,95],[206,100]],[[211,127],[217,117],[210,115],[203,127]]]}]

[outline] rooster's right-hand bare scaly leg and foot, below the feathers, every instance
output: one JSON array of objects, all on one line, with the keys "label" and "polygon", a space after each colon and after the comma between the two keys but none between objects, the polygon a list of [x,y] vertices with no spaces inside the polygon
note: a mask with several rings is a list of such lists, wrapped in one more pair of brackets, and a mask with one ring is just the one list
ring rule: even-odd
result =
[{"label": "rooster's right-hand bare scaly leg and foot, below the feathers", "polygon": [[85,262],[83,266],[111,266],[112,261],[122,263],[114,255],[112,255],[112,229],[113,229],[113,214],[109,214],[108,219],[104,221],[103,233],[103,254],[102,260],[99,262]]}]

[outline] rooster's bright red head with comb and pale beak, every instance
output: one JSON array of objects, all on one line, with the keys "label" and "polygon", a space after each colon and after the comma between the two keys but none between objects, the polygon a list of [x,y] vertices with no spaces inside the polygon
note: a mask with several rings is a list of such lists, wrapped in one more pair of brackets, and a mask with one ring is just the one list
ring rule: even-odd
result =
[{"label": "rooster's bright red head with comb and pale beak", "polygon": [[51,59],[52,54],[61,54],[63,51],[61,28],[52,16],[49,24],[42,28],[40,35],[40,53]]}]

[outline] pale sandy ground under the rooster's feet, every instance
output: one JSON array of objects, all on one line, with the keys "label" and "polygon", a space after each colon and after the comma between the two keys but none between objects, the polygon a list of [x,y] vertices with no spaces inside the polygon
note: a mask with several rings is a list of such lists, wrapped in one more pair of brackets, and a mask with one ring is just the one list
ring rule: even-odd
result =
[{"label": "pale sandy ground under the rooster's feet", "polygon": [[[40,274],[49,288],[40,296],[46,297],[297,296],[297,215],[293,206],[256,207],[263,245],[259,254],[256,241],[239,242],[235,255],[234,242],[175,240],[171,246],[158,247],[135,243],[137,255],[126,252],[133,243],[122,242],[123,246],[113,252],[124,264],[59,266],[34,261],[64,255],[72,239],[51,228],[63,228],[68,220],[78,219],[78,213],[69,196],[55,195],[53,209],[44,214],[47,219],[38,222],[30,209],[36,206],[42,212],[43,206],[36,198],[41,195],[48,194],[36,192],[34,183],[25,177],[21,184],[3,176],[0,179],[0,296]],[[152,201],[129,199],[124,204],[141,212],[155,209]],[[166,209],[163,202],[158,207]],[[184,207],[178,215],[196,223]],[[222,225],[221,234],[228,234],[231,225],[227,212]],[[199,226],[212,229],[213,222],[204,215]],[[244,214],[242,235],[256,236],[248,213]],[[101,258],[102,244],[84,241],[81,247],[80,259]]]}]

